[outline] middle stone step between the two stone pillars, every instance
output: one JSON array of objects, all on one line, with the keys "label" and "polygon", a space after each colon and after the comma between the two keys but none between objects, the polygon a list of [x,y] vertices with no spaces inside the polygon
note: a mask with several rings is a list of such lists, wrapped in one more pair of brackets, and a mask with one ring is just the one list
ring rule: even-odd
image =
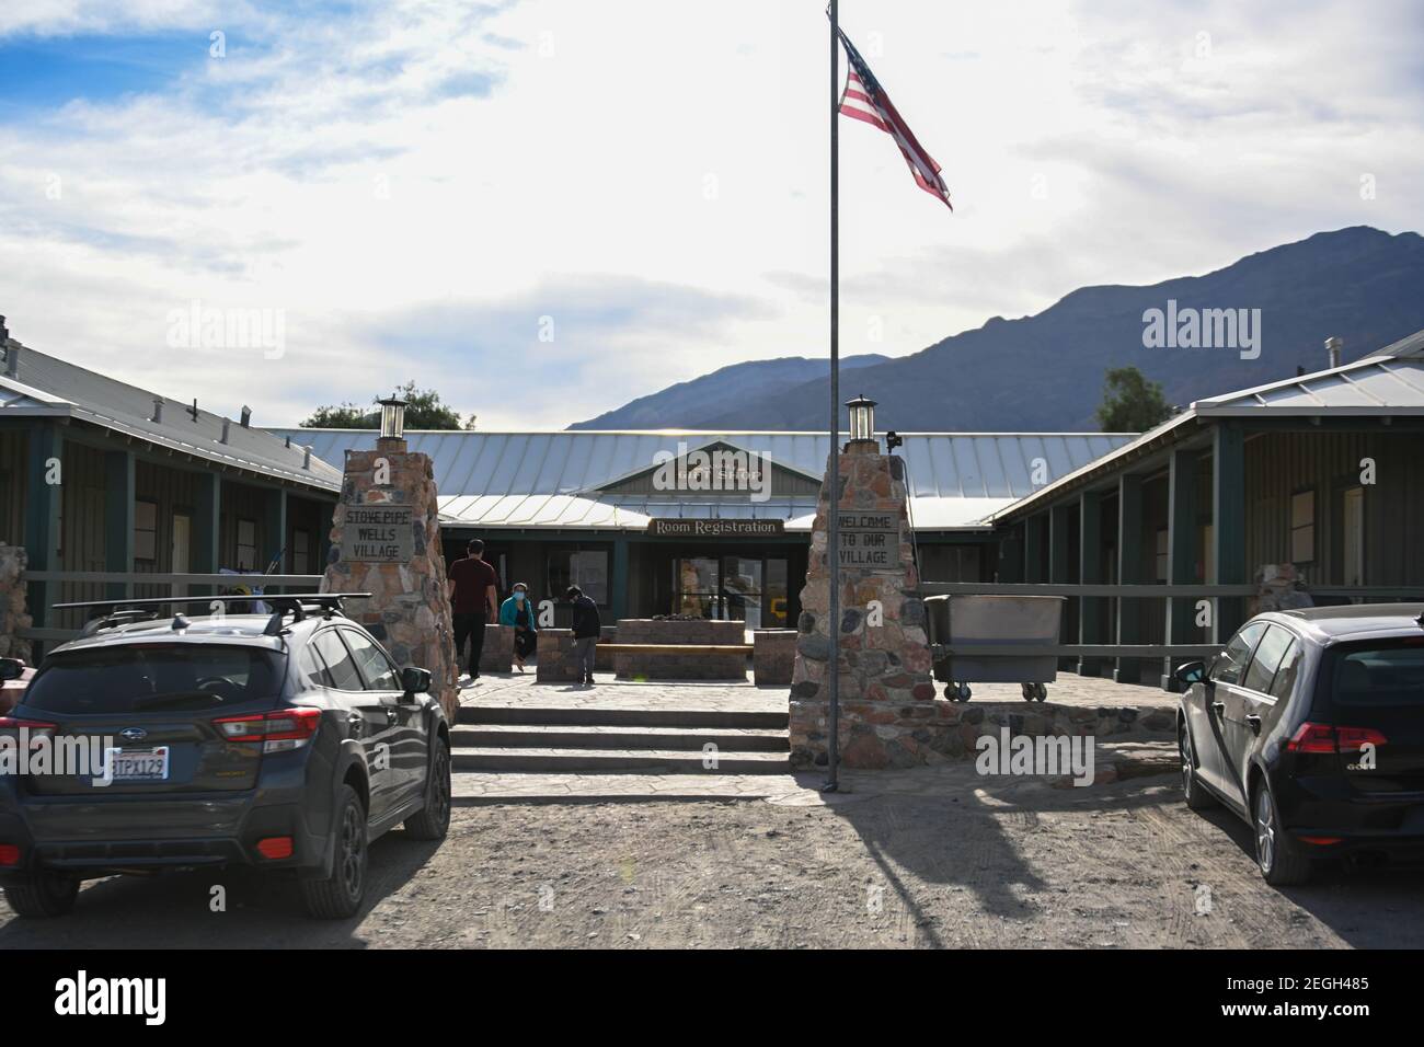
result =
[{"label": "middle stone step between the two stone pillars", "polygon": [[786,752],[786,729],[615,726],[598,724],[484,724],[459,726],[453,748],[506,749],[695,749],[715,745],[722,752]]}]

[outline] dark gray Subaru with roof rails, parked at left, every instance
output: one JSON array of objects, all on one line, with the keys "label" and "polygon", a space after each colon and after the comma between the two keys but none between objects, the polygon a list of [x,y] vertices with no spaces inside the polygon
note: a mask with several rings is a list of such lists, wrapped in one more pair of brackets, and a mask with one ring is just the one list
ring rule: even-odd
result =
[{"label": "dark gray Subaru with roof rails, parked at left", "polygon": [[64,913],[95,876],[245,865],[295,873],[312,916],[342,919],[370,840],[402,822],[444,838],[450,731],[430,672],[397,668],[339,597],[268,600],[275,614],[191,620],[131,601],[44,660],[0,734],[87,739],[104,762],[0,775],[17,913]]}]

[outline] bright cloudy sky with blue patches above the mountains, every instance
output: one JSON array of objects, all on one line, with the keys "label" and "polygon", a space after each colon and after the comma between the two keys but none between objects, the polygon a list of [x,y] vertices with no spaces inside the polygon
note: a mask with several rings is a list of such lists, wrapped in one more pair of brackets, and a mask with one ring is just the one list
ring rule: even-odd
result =
[{"label": "bright cloudy sky with blue patches above the mountains", "polygon": [[[271,424],[414,379],[486,427],[561,427],[823,355],[823,9],[10,0],[0,312]],[[1420,229],[1421,10],[843,0],[956,201],[843,121],[843,352]],[[282,352],[175,346],[194,303],[281,312]]]}]

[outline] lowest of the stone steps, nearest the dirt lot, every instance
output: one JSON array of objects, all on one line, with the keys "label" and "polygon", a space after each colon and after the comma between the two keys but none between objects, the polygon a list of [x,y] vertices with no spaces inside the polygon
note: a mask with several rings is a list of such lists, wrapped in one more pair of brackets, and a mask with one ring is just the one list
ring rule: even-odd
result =
[{"label": "lowest of the stone steps, nearest the dirt lot", "polygon": [[716,766],[703,766],[702,752],[685,749],[515,749],[456,748],[451,771],[500,771],[506,773],[611,773],[641,771],[658,775],[785,775],[790,773],[786,752],[718,752]]}]

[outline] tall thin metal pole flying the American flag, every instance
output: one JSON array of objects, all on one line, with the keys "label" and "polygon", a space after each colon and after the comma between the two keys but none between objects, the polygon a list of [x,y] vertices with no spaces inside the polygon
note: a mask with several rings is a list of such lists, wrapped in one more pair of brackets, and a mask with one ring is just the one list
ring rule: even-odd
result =
[{"label": "tall thin metal pole flying the American flag", "polygon": [[829,775],[824,792],[840,788],[840,100],[836,75],[840,58],[837,0],[830,0],[830,472],[826,476],[826,558],[830,567],[830,601],[826,631],[830,654],[826,687],[830,688]]}]

